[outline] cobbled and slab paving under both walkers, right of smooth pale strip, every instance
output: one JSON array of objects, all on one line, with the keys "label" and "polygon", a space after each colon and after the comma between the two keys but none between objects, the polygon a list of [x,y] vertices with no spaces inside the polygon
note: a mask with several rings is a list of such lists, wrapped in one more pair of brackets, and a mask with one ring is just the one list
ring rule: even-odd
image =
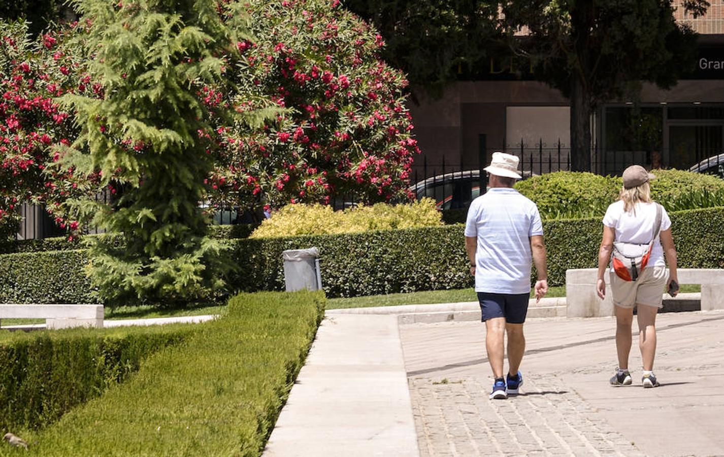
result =
[{"label": "cobbled and slab paving under both walkers, right of smooth pale strip", "polygon": [[506,401],[488,399],[480,322],[401,326],[421,456],[724,456],[724,314],[659,317],[657,389],[640,386],[636,337],[633,386],[607,385],[614,325],[531,319]]}]

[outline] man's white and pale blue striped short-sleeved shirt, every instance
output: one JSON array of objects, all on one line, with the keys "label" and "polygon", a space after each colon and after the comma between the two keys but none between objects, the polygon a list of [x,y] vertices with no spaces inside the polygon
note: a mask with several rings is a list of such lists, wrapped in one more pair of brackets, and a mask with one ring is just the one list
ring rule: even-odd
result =
[{"label": "man's white and pale blue striped short-sleeved shirt", "polygon": [[518,190],[491,188],[473,200],[465,236],[478,238],[475,291],[530,293],[535,235],[543,235],[538,206]]}]

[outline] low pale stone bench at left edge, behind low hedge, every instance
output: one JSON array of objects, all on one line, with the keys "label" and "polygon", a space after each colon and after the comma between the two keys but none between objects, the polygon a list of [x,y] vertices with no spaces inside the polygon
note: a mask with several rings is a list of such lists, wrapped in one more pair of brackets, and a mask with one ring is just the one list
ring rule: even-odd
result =
[{"label": "low pale stone bench at left edge, behind low hedge", "polygon": [[103,328],[103,305],[0,304],[0,319],[46,319],[46,328]]}]

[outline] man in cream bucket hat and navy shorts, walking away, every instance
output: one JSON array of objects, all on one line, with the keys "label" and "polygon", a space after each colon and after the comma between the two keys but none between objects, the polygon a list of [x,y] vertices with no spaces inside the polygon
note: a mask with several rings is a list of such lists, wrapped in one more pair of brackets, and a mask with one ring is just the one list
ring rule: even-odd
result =
[{"label": "man in cream bucket hat and navy shorts, walking away", "polygon": [[[531,256],[538,272],[535,285],[540,300],[548,291],[543,225],[538,207],[513,188],[518,157],[493,153],[485,168],[489,190],[470,205],[465,247],[475,277],[485,347],[495,382],[490,398],[517,395],[523,376],[518,371],[526,350],[523,322],[531,293]],[[503,339],[508,333],[508,377],[503,378]]]}]

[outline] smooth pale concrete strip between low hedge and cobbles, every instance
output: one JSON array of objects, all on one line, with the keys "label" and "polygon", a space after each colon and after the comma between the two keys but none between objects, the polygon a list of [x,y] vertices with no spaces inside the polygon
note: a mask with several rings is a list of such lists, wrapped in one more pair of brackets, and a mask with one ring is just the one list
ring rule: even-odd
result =
[{"label": "smooth pale concrete strip between low hedge and cobbles", "polygon": [[418,456],[397,317],[324,319],[264,456]]}]

